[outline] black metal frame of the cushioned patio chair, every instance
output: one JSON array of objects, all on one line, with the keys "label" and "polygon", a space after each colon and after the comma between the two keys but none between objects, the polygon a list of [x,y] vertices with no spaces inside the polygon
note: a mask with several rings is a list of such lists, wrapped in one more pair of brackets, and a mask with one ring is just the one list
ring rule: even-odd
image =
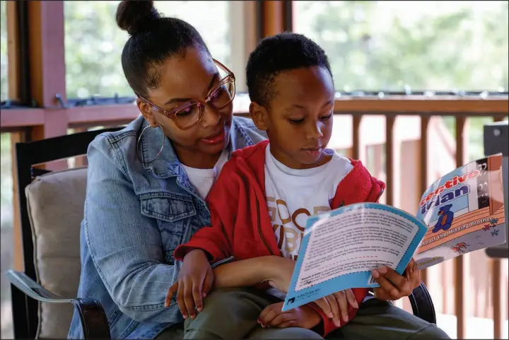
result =
[{"label": "black metal frame of the cushioned patio chair", "polygon": [[[117,131],[120,128],[86,131],[78,134],[59,136],[42,141],[16,143],[16,161],[18,173],[18,193],[21,213],[21,232],[23,244],[23,262],[25,271],[6,271],[11,282],[11,303],[15,339],[35,339],[38,324],[38,302],[72,303],[81,317],[85,339],[111,339],[107,317],[98,300],[91,298],[61,298],[47,291],[37,283],[34,264],[34,246],[32,228],[28,218],[25,187],[36,176],[50,172],[35,168],[35,165],[53,160],[61,160],[85,155],[88,144],[95,136],[105,131]],[[414,315],[427,322],[436,324],[435,308],[428,289],[421,286],[409,295]]]}]

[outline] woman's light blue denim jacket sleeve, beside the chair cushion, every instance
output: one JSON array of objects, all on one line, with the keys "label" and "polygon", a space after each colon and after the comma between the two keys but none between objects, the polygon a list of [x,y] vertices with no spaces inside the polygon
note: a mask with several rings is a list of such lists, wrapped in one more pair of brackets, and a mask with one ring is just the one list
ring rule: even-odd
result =
[{"label": "woman's light blue denim jacket sleeve, beside the chair cushion", "polygon": [[164,263],[156,221],[141,214],[140,201],[107,137],[90,143],[88,163],[84,232],[112,300],[134,320],[182,320],[176,303],[164,307],[179,267]]}]

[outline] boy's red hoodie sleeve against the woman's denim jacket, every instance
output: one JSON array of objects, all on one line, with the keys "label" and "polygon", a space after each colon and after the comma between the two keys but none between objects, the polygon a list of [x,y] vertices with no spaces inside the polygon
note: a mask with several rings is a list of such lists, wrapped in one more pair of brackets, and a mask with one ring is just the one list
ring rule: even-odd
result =
[{"label": "boy's red hoodie sleeve against the woman's denim jacket", "polygon": [[189,242],[178,246],[175,249],[175,259],[182,261],[188,252],[196,249],[204,250],[211,263],[230,256],[239,194],[235,168],[234,159],[223,166],[206,199],[211,213],[211,225],[199,229]]}]

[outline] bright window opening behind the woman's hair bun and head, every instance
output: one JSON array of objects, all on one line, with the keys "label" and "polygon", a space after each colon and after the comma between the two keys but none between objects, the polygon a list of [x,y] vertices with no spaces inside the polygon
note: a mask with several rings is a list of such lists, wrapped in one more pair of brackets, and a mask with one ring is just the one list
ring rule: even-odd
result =
[{"label": "bright window opening behind the woman's hair bun and head", "polygon": [[[120,61],[129,35],[115,23],[118,4],[119,1],[64,1],[67,98],[133,95]],[[155,6],[164,16],[194,25],[213,56],[229,64],[227,1],[155,1]]]}]

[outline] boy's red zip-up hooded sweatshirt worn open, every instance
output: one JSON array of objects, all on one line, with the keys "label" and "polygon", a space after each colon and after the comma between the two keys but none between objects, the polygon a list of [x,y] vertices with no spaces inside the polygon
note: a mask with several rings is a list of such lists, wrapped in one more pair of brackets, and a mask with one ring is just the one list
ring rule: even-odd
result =
[{"label": "boy's red zip-up hooded sweatshirt worn open", "polygon": [[[189,242],[177,247],[175,259],[182,261],[185,254],[195,249],[209,253],[211,262],[230,256],[242,260],[281,255],[265,200],[264,166],[268,143],[262,141],[233,152],[206,199],[211,226],[201,228]],[[385,189],[385,183],[371,177],[360,160],[351,160],[351,163],[353,169],[339,183],[331,202],[332,209],[353,203],[376,202]],[[353,288],[352,291],[361,305],[368,288]],[[338,328],[319,307],[309,306],[322,316],[323,336]],[[356,312],[356,308],[349,306],[349,320]],[[341,326],[343,324],[341,320]]]}]

